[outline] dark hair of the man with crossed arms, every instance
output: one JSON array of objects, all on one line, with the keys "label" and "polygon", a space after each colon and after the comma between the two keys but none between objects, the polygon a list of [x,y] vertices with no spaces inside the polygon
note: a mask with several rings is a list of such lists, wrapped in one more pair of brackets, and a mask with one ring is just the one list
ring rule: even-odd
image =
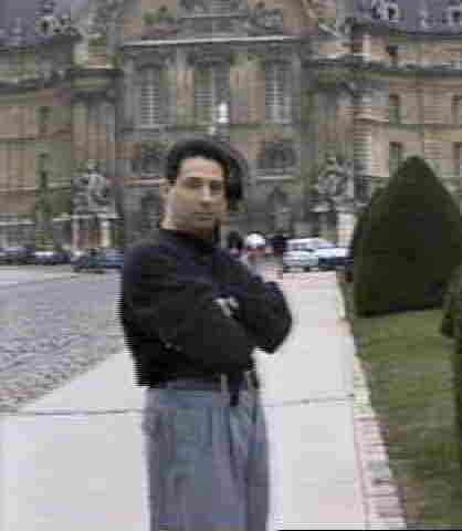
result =
[{"label": "dark hair of the man with crossed arms", "polygon": [[242,199],[242,170],[239,163],[223,143],[213,138],[189,138],[177,142],[167,153],[166,179],[174,184],[181,163],[192,157],[214,160],[223,168],[225,196],[231,206]]}]

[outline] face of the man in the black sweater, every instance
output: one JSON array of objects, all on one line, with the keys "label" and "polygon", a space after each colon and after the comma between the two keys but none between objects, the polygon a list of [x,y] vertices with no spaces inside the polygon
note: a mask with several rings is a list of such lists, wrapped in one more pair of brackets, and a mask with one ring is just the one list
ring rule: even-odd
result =
[{"label": "face of the man in the black sweater", "polygon": [[162,227],[209,238],[227,212],[223,169],[202,157],[186,158],[165,189]]}]

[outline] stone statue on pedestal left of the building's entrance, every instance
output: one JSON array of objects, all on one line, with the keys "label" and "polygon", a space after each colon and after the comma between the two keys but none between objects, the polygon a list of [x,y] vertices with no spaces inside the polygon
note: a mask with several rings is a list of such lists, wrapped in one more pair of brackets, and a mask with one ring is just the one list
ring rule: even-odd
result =
[{"label": "stone statue on pedestal left of the building's entrance", "polygon": [[84,173],[73,181],[73,205],[75,212],[106,211],[112,202],[109,179],[97,171],[94,160],[88,160]]}]

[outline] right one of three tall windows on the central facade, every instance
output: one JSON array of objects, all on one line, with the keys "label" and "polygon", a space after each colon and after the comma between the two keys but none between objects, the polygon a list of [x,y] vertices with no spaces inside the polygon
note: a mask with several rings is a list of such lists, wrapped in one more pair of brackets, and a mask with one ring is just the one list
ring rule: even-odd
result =
[{"label": "right one of three tall windows on the central facade", "polygon": [[265,116],[267,122],[291,121],[292,93],[290,64],[283,62],[265,65]]}]

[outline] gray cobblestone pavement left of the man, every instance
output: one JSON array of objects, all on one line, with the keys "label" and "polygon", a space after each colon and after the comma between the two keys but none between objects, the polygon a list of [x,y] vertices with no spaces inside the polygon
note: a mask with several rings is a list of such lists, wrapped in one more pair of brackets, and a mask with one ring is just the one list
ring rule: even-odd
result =
[{"label": "gray cobblestone pavement left of the man", "polygon": [[19,269],[17,280],[4,271],[0,412],[19,409],[124,347],[116,315],[117,271],[73,275],[69,269]]}]

